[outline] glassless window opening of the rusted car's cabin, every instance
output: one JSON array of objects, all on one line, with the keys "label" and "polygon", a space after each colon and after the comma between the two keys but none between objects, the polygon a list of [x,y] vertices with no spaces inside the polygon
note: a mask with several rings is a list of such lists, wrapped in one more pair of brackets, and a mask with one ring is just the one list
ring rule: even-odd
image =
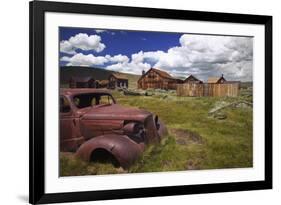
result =
[{"label": "glassless window opening of the rusted car's cabin", "polygon": [[73,97],[73,102],[74,105],[79,109],[115,103],[113,97],[107,93],[87,93],[75,95]]}]

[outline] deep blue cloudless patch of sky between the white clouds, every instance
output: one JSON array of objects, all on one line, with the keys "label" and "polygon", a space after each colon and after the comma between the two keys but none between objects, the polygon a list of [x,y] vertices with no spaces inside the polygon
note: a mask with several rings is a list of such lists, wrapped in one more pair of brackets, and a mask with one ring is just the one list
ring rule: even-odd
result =
[{"label": "deep blue cloudless patch of sky between the white clouds", "polygon": [[[179,45],[178,33],[160,33],[145,31],[120,31],[107,30],[106,32],[97,33],[96,29],[89,28],[60,28],[60,41],[68,40],[70,37],[78,33],[87,33],[88,35],[99,35],[102,42],[107,46],[99,55],[118,55],[123,54],[131,56],[133,53],[142,51],[163,50]],[[132,46],[133,45],[133,46]],[[93,51],[83,51],[84,54],[97,54]],[[63,53],[61,53],[63,56]]]}]

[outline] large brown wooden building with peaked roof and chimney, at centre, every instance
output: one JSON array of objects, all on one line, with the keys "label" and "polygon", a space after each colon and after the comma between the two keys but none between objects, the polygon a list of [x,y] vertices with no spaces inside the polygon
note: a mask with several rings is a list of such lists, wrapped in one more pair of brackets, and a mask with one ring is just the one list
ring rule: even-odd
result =
[{"label": "large brown wooden building with peaked roof and chimney, at centre", "polygon": [[177,89],[177,84],[182,83],[182,80],[173,78],[170,74],[163,70],[150,68],[147,72],[143,72],[138,80],[138,88],[146,90],[152,89]]}]

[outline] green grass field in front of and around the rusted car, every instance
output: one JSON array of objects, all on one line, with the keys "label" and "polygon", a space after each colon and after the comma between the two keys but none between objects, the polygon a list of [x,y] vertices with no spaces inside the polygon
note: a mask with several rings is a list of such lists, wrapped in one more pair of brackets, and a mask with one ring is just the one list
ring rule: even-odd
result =
[{"label": "green grass field in front of and around the rusted car", "polygon": [[227,118],[223,120],[208,115],[222,102],[251,98],[177,97],[173,93],[124,96],[117,91],[113,95],[119,104],[157,114],[169,135],[160,144],[148,146],[128,170],[62,155],[62,176],[252,167],[252,108],[226,108],[222,112]]}]

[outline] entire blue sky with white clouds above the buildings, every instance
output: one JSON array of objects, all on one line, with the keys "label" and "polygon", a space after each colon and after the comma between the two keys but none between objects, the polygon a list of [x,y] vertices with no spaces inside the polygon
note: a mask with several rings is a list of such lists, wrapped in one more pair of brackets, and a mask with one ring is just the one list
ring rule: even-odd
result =
[{"label": "entire blue sky with white clouds above the buildings", "polygon": [[[60,66],[89,66],[141,74],[151,67],[201,80],[224,74],[252,80],[249,37],[61,27]],[[94,69],[94,68],[93,68]]]}]

